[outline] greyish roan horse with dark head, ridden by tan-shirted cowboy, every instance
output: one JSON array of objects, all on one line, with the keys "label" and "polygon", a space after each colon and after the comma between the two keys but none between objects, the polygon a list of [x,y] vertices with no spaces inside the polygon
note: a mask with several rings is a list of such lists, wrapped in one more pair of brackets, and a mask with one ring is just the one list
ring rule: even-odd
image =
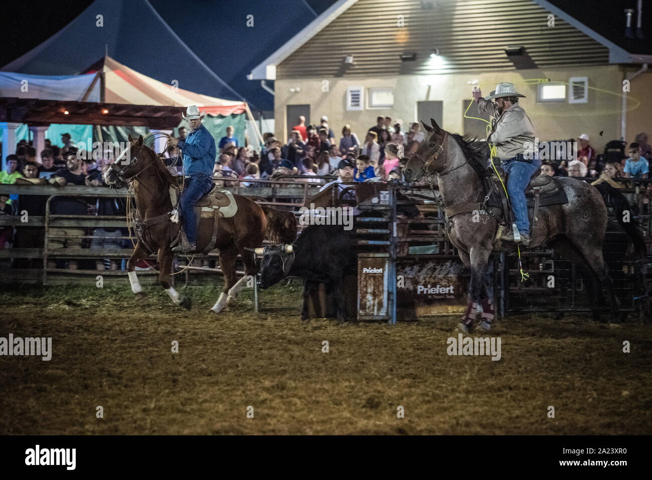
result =
[{"label": "greyish roan horse with dark head, ridden by tan-shirted cowboy", "polygon": [[[428,133],[403,169],[405,181],[417,181],[424,176],[430,179],[432,173],[437,173],[439,192],[445,207],[461,207],[464,203],[481,205],[486,192],[481,178],[471,166],[471,162],[476,162],[476,165],[484,162],[481,147],[474,146],[475,142],[468,138],[439,128],[433,119],[430,119],[430,123],[432,127],[422,122]],[[529,247],[546,243],[559,257],[587,266],[594,280],[597,280],[594,281],[598,287],[594,288],[596,297],[599,287],[604,288],[611,312],[617,316],[619,301],[615,297],[614,284],[602,258],[602,243],[608,222],[602,195],[597,188],[583,181],[570,177],[559,177],[557,180],[569,202],[539,207],[537,228],[533,229]],[[459,325],[459,329],[465,333],[473,328],[473,322],[477,320],[478,305],[482,305],[480,326],[483,329],[490,328],[495,316],[484,274],[489,256],[494,250],[498,220],[486,217],[482,219],[486,221],[474,222],[473,217],[473,212],[467,211],[450,218],[451,243],[458,248],[462,262],[471,269],[469,304]],[[637,228],[624,226],[634,245],[642,245]],[[516,245],[503,241],[498,250],[514,252]],[[594,318],[599,316],[597,306],[593,315]]]}]

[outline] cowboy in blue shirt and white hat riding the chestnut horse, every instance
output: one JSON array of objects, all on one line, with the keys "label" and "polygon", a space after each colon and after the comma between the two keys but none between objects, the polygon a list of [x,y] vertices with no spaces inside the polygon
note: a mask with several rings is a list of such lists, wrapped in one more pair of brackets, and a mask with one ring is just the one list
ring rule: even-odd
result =
[{"label": "cowboy in blue shirt and white hat riding the chestnut horse", "polygon": [[200,111],[196,105],[190,105],[186,110],[184,120],[190,125],[190,133],[186,140],[170,138],[170,143],[181,150],[183,154],[183,174],[185,186],[181,194],[180,207],[183,231],[188,239],[189,248],[185,250],[183,243],[172,248],[173,252],[192,253],[197,249],[197,218],[194,211],[195,203],[213,188],[213,166],[215,166],[215,138],[201,125]]}]

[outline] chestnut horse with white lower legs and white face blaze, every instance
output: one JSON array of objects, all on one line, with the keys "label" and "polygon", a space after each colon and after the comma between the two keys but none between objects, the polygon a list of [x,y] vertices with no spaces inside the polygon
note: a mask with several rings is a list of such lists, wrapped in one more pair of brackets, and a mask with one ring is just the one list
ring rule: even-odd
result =
[{"label": "chestnut horse with white lower legs and white face blaze", "polygon": [[[142,136],[137,141],[129,136],[129,142],[128,149],[104,173],[104,181],[107,185],[119,186],[132,180],[136,218],[142,222],[150,220],[141,232],[137,230],[138,243],[127,262],[132,292],[137,297],[145,296],[136,277],[136,263],[148,254],[157,252],[158,282],[174,303],[190,310],[190,299],[177,292],[170,281],[173,259],[170,243],[177,238],[180,226],[170,221],[173,205],[169,190],[170,187],[178,187],[181,179],[170,173],[153,149],[143,145]],[[225,279],[224,291],[211,308],[216,313],[235,301],[247,278],[255,281],[256,262],[252,250],[259,247],[265,237],[273,243],[291,243],[297,237],[297,220],[292,213],[261,207],[241,195],[233,195],[233,198],[237,203],[237,213],[234,217],[219,219],[215,241]],[[212,235],[213,219],[201,218],[197,235],[198,251],[209,245]],[[237,280],[235,271],[238,254],[242,256],[245,267],[244,277],[240,280]]]}]

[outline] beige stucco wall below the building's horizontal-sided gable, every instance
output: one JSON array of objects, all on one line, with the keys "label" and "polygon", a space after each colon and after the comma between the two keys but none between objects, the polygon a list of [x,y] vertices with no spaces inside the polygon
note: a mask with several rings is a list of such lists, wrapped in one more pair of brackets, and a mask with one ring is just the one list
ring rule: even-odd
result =
[{"label": "beige stucco wall below the building's horizontal-sided gable", "polygon": [[[532,78],[550,78],[551,81],[568,82],[569,78],[575,76],[588,76],[589,87],[599,89],[589,89],[589,101],[586,104],[569,104],[567,101],[537,103],[536,85],[524,83],[524,80]],[[362,140],[364,132],[376,124],[378,115],[389,115],[393,119],[402,119],[404,126],[415,121],[417,101],[421,100],[443,100],[442,127],[451,132],[461,132],[464,125],[462,102],[464,99],[471,98],[472,87],[467,82],[478,80],[483,95],[488,95],[496,87],[497,82],[516,83],[516,89],[527,97],[521,98],[520,104],[532,120],[540,140],[577,138],[580,134],[587,133],[591,137],[591,143],[601,149],[608,140],[620,137],[621,97],[619,95],[622,91],[622,79],[623,72],[617,65],[482,74],[469,72],[436,76],[281,79],[276,80],[274,85],[275,133],[283,139],[288,138],[286,105],[310,104],[312,122],[318,122],[321,115],[328,115],[329,125],[333,128],[338,140],[342,126],[346,123],[353,127],[353,131]],[[328,81],[328,91],[322,91],[323,80]],[[639,80],[639,82],[642,81]],[[430,85],[424,85],[424,83],[430,83]],[[349,85],[364,86],[364,110],[346,110],[346,89]],[[296,87],[299,87],[299,92],[290,92],[291,88]],[[370,87],[393,87],[394,108],[366,108]],[[638,87],[636,88],[638,89]],[[648,91],[651,90],[648,88]],[[647,112],[650,112],[649,108],[647,108]],[[471,106],[469,115],[476,113],[475,106]],[[427,119],[424,120],[427,121]],[[639,127],[632,125],[631,128],[636,130]],[[602,137],[599,136],[600,131],[603,131]]]}]

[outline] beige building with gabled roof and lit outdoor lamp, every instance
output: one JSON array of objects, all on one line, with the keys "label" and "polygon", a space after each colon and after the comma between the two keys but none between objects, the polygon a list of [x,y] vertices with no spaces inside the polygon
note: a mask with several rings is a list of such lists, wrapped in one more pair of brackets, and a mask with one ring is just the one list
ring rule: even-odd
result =
[{"label": "beige building with gabled roof and lit outdoor lamp", "polygon": [[482,138],[485,124],[464,117],[472,85],[488,95],[497,82],[512,82],[541,140],[587,133],[600,148],[649,129],[644,112],[652,106],[649,42],[601,33],[611,18],[624,34],[627,7],[602,3],[587,5],[604,19],[589,27],[556,0],[340,0],[250,78],[274,80],[283,138],[299,114],[308,123],[327,115],[336,132],[349,124],[361,138],[379,115],[402,119],[404,130],[432,117]]}]

